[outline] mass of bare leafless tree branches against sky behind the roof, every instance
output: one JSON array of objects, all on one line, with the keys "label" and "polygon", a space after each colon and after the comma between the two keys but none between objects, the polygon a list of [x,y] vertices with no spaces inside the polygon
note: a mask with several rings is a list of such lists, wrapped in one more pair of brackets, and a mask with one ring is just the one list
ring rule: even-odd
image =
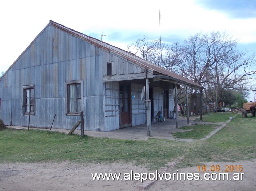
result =
[{"label": "mass of bare leafless tree branches against sky behind the roof", "polygon": [[201,32],[171,46],[144,36],[128,50],[202,85],[208,99],[217,101],[225,89],[256,90],[256,55],[238,51],[237,45],[238,40],[225,32]]}]

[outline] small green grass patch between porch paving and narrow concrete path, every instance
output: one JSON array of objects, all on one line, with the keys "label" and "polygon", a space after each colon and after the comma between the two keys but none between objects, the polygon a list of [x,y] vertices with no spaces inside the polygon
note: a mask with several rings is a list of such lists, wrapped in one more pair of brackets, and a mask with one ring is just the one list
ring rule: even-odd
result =
[{"label": "small green grass patch between porch paving and narrow concrete path", "polygon": [[193,125],[181,127],[182,130],[191,130],[185,132],[176,132],[172,133],[173,137],[180,139],[202,139],[206,135],[209,135],[210,132],[216,129],[217,125]]}]

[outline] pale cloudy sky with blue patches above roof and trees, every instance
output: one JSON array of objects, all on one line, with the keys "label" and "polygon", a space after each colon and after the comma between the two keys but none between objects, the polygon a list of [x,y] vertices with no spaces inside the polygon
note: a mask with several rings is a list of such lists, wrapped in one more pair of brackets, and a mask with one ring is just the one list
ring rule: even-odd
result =
[{"label": "pale cloudy sky with blue patches above roof and trees", "polygon": [[161,29],[168,43],[225,31],[240,50],[256,52],[256,0],[8,0],[0,1],[0,72],[50,20],[97,39],[105,35],[102,41],[124,50],[144,36],[159,38]]}]

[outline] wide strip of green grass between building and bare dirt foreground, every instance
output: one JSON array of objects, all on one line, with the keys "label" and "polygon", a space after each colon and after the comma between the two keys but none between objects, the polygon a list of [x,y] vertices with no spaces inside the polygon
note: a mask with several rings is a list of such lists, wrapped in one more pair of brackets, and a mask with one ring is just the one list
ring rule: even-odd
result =
[{"label": "wide strip of green grass between building and bare dirt foreground", "polygon": [[175,168],[179,168],[203,162],[250,160],[256,157],[256,125],[252,119],[256,118],[235,117],[211,138],[190,143],[154,138],[146,141],[82,138],[58,132],[6,129],[0,131],[0,163],[131,162],[159,169],[173,161],[177,161]]}]

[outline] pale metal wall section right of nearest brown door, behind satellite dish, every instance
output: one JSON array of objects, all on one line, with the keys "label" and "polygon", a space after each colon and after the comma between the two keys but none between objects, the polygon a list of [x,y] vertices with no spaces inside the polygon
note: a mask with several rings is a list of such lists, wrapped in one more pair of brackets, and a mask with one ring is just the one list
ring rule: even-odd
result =
[{"label": "pale metal wall section right of nearest brown door, behind satellite dish", "polygon": [[146,123],[145,103],[141,101],[141,90],[144,85],[132,83],[132,125]]}]

